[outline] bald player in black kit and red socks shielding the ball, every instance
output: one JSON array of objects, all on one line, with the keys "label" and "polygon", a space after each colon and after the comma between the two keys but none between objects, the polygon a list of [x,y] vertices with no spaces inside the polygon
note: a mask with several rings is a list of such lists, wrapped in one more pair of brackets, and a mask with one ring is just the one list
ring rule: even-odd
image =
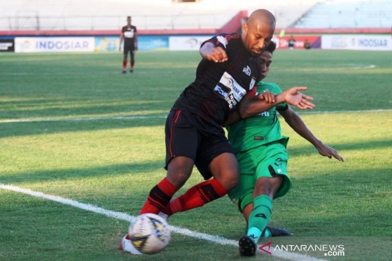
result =
[{"label": "bald player in black kit and red socks shielding the ball", "polygon": [[[201,207],[237,185],[237,159],[221,127],[230,109],[238,106],[240,115],[246,115],[249,103],[267,110],[281,102],[313,108],[306,100],[311,97],[298,92],[305,87],[279,94],[275,103],[249,102],[255,99],[261,77],[256,58],[270,44],[274,30],[274,16],[260,9],[250,15],[242,35],[222,33],[202,43],[196,79],[175,101],[166,121],[167,175],[149,192],[140,214],[167,217]],[[206,181],[171,201],[194,165]]]}]

